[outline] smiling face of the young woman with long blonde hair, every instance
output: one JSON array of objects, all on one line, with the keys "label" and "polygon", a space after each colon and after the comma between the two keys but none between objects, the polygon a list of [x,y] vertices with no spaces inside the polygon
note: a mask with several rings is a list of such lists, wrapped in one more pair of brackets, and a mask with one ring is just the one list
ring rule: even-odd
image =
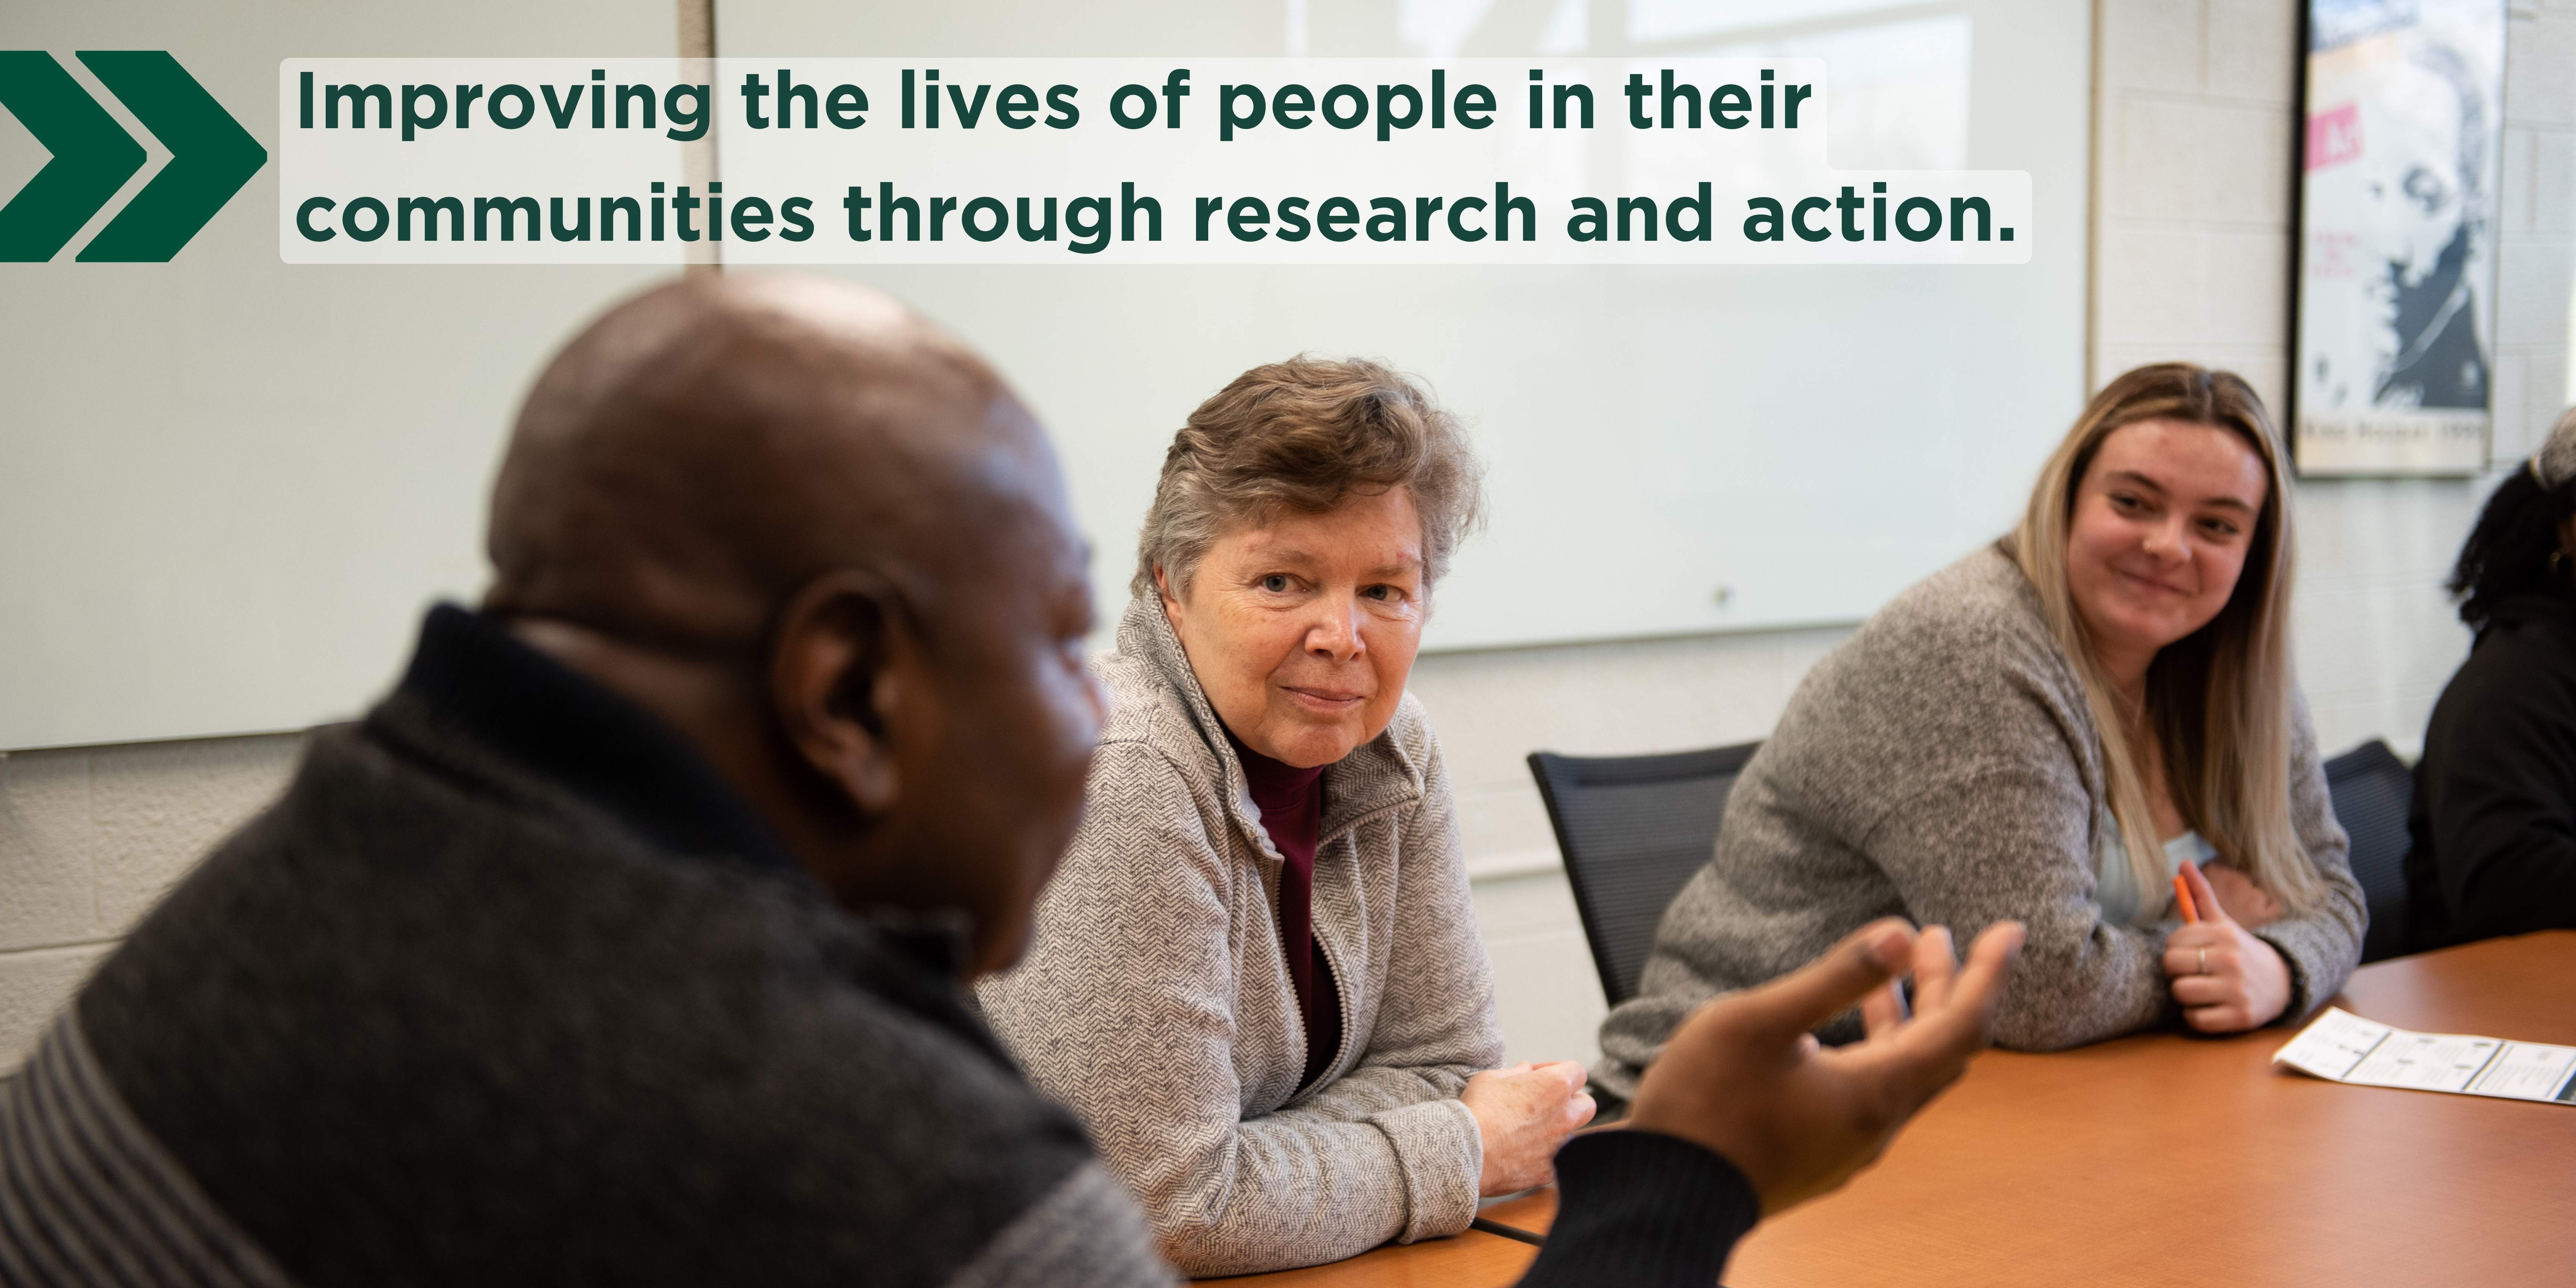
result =
[{"label": "smiling face of the young woman with long blonde hair", "polygon": [[2218,425],[2141,420],[2102,440],[2076,484],[2066,587],[2115,672],[2143,675],[2228,605],[2269,489],[2262,456]]}]

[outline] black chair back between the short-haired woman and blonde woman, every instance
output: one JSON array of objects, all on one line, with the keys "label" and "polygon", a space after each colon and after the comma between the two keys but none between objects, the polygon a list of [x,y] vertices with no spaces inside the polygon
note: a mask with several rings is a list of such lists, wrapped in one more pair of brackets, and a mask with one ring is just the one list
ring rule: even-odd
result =
[{"label": "black chair back between the short-haired woman and blonde woman", "polygon": [[1602,997],[1636,997],[1664,907],[1718,842],[1726,793],[1759,742],[1669,755],[1530,752],[1530,778],[1548,804],[1566,855],[1574,909],[1584,917]]}]

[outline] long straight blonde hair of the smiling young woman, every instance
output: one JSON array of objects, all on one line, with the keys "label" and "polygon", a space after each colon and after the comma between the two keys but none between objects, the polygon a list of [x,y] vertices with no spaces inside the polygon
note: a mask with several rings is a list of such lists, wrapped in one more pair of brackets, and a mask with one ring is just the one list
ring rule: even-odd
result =
[{"label": "long straight blonde hair of the smiling young woman", "polygon": [[[2254,518],[2254,541],[2226,608],[2156,652],[2146,670],[2148,729],[2130,729],[2066,585],[2066,538],[2076,487],[2102,440],[2141,420],[2184,420],[2236,433],[2262,459],[2272,492]],[[2110,381],[2040,469],[2030,510],[2007,549],[2038,590],[2048,629],[2084,680],[2084,698],[2102,732],[2112,822],[2138,889],[2154,899],[2164,886],[2164,845],[2146,804],[2141,762],[2143,739],[2154,737],[2182,819],[2282,904],[2313,904],[2316,868],[2290,827],[2290,471],[2254,389],[2231,371],[2192,363],[2141,366]]]}]

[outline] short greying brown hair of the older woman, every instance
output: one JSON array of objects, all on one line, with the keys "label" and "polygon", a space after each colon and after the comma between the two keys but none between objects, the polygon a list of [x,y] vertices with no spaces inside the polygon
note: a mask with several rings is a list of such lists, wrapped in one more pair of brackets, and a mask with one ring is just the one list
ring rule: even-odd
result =
[{"label": "short greying brown hair of the older woman", "polygon": [[1422,585],[1484,518],[1481,469],[1458,428],[1401,374],[1352,358],[1255,366],[1190,412],[1162,456],[1136,541],[1133,590],[1164,569],[1175,595],[1229,528],[1319,515],[1350,495],[1406,487],[1422,515]]}]

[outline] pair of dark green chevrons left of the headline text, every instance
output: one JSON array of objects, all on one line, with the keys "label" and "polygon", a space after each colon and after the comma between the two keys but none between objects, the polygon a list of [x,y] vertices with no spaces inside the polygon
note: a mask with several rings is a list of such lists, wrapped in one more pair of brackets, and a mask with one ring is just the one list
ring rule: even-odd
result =
[{"label": "pair of dark green chevrons left of the headline text", "polygon": [[[85,49],[80,62],[170,149],[144,191],[80,247],[88,263],[165,263],[268,165],[268,149],[160,49]],[[52,260],[144,162],[52,54],[0,52],[0,106],[54,160],[0,206],[0,260]]]}]

